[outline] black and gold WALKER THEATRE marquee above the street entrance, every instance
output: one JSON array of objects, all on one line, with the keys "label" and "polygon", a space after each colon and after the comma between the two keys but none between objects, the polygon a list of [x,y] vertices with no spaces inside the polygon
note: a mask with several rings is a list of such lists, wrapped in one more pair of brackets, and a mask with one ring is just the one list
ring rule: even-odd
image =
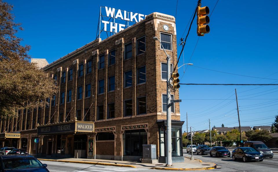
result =
[{"label": "black and gold WALKER THEATRE marquee above the street entrance", "polygon": [[48,134],[76,134],[94,132],[94,122],[69,121],[57,124],[39,125],[38,135]]}]

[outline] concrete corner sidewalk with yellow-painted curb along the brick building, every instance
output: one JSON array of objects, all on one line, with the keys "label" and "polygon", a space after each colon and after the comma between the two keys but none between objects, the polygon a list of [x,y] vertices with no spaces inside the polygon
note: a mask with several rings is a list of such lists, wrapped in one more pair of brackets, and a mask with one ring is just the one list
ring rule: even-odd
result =
[{"label": "concrete corner sidewalk with yellow-painted curb along the brick building", "polygon": [[72,162],[82,164],[94,164],[94,165],[109,165],[131,168],[145,168],[145,169],[158,169],[158,170],[209,170],[215,169],[216,164],[212,162],[202,162],[201,160],[190,160],[188,157],[184,157],[184,162],[175,162],[173,167],[165,167],[165,164],[146,164],[134,161],[116,161],[116,160],[99,160],[99,159],[84,159],[84,158],[55,158],[55,157],[38,157],[39,160],[44,161],[56,161],[56,162]]}]

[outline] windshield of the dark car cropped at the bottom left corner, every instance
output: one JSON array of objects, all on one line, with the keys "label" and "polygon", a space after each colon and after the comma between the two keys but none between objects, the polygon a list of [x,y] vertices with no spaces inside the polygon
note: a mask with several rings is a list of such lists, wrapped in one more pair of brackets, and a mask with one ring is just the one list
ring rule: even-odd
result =
[{"label": "windshield of the dark car cropped at the bottom left corner", "polygon": [[41,167],[39,160],[32,157],[7,158],[2,160],[4,169],[25,169]]}]

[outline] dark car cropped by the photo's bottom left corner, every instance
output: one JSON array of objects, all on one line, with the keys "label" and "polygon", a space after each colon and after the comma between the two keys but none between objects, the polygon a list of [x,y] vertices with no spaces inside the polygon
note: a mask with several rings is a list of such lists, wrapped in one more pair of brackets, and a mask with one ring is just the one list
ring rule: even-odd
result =
[{"label": "dark car cropped by the photo's bottom left corner", "polygon": [[30,171],[49,172],[47,164],[42,164],[32,155],[2,155],[0,156],[0,171]]}]

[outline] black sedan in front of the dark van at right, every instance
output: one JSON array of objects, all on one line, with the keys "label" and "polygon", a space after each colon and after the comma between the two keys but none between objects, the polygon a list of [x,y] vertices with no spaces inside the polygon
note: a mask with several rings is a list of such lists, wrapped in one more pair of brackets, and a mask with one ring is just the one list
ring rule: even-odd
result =
[{"label": "black sedan in front of the dark van at right", "polygon": [[251,147],[241,147],[232,151],[233,160],[242,159],[247,161],[263,161],[264,155]]}]

